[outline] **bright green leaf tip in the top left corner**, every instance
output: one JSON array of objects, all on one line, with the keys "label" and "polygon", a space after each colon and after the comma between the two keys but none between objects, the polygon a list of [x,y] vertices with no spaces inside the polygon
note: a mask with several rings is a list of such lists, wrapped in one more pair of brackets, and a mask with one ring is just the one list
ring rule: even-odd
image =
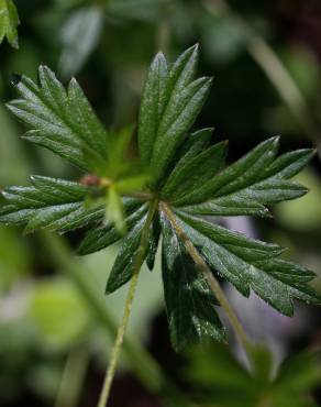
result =
[{"label": "bright green leaf tip in the top left corner", "polygon": [[7,37],[9,44],[19,48],[16,28],[19,15],[12,0],[0,0],[0,44]]}]

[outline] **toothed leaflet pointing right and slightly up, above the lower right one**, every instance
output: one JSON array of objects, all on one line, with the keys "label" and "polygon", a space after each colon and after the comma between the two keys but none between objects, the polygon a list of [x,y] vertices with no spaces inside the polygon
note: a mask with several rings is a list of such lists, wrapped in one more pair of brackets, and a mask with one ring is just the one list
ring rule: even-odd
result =
[{"label": "toothed leaflet pointing right and slightly up, above the lower right one", "polygon": [[307,194],[305,187],[289,178],[314,154],[312,150],[299,150],[276,158],[277,148],[278,139],[261,143],[245,157],[173,204],[193,215],[268,216],[266,205]]}]

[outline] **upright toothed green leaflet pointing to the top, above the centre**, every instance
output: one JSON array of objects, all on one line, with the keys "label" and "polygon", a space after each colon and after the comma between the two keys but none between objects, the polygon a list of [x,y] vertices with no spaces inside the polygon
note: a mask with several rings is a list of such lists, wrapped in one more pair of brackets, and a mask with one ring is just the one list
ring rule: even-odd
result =
[{"label": "upright toothed green leaflet pointing to the top, above the centre", "polygon": [[144,164],[150,164],[154,183],[160,180],[176,148],[180,145],[202,107],[210,78],[192,80],[198,47],[186,51],[167,74],[163,54],[148,72],[140,113],[139,142]]}]

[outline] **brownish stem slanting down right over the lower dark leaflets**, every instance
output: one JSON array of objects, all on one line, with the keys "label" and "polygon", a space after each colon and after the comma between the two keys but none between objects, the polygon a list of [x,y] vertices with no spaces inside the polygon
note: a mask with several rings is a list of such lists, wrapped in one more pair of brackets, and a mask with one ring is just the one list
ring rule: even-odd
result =
[{"label": "brownish stem slanting down right over the lower dark leaflets", "polygon": [[212,274],[210,267],[204,262],[203,257],[200,255],[198,250],[195,248],[195,245],[191,243],[191,241],[188,239],[188,237],[185,234],[184,230],[180,228],[179,223],[176,220],[175,215],[173,213],[170,207],[162,201],[159,202],[159,207],[168,221],[170,222],[173,229],[175,230],[176,234],[179,237],[179,239],[184,242],[185,248],[198,268],[203,273],[207,283],[213,294],[215,295],[218,301],[220,302],[222,309],[224,310],[231,326],[233,327],[236,337],[239,339],[239,342],[241,346],[243,348],[248,363],[252,365],[252,358],[251,358],[251,341],[248,340],[234,309],[231,307],[224,292],[222,290],[220,284],[218,283],[217,278]]}]

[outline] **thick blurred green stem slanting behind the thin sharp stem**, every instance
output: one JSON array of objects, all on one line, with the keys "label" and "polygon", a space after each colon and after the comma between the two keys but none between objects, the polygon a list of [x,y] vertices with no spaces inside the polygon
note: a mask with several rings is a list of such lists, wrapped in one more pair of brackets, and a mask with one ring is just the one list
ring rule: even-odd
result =
[{"label": "thick blurred green stem slanting behind the thin sharp stem", "polygon": [[[43,232],[42,243],[58,270],[77,286],[97,321],[109,334],[115,337],[118,327],[106,307],[104,297],[99,295],[92,279],[88,278],[88,270],[75,257],[67,241],[57,234]],[[137,341],[133,338],[131,340],[124,338],[122,349],[131,364],[132,373],[148,392],[164,399],[167,406],[193,407],[193,404],[165,376],[155,359]]]}]

